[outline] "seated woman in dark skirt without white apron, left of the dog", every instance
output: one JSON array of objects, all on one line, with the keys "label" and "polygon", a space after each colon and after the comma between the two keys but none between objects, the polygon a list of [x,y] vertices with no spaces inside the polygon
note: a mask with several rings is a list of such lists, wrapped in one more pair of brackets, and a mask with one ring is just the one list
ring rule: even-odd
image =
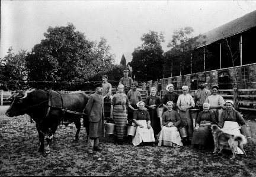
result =
[{"label": "seated woman in dark skirt without white apron, left of the dog", "polygon": [[211,124],[217,124],[216,116],[213,111],[209,111],[210,104],[203,104],[203,111],[199,113],[196,119],[196,127],[194,129],[193,138],[190,149],[194,149],[195,145],[199,145],[200,149],[214,147]]}]

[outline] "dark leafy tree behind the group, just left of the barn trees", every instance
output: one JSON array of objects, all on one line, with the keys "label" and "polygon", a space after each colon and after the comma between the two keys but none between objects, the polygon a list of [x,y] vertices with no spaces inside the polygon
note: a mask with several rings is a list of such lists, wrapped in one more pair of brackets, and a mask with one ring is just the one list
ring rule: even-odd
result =
[{"label": "dark leafy tree behind the group, just left of the barn trees", "polygon": [[156,80],[162,77],[163,57],[161,42],[164,35],[149,31],[140,38],[143,43],[133,51],[130,66],[136,80]]}]

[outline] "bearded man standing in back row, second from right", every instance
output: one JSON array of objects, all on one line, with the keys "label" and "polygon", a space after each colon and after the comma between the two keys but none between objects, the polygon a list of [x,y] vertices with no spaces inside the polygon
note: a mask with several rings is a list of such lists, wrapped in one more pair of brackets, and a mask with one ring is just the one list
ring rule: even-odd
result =
[{"label": "bearded man standing in back row, second from right", "polygon": [[210,90],[204,88],[204,80],[199,81],[199,89],[195,91],[194,103],[196,104],[196,109],[200,112],[203,111],[203,103],[208,96],[211,95]]}]

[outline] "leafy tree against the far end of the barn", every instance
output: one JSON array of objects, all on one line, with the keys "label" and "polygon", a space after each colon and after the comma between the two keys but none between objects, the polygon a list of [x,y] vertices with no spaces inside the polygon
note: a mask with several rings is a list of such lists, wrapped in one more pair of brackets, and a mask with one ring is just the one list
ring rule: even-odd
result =
[{"label": "leafy tree against the far end of the barn", "polygon": [[[205,71],[204,56],[210,57],[207,48],[197,48],[205,43],[203,35],[194,37],[192,27],[175,30],[164,54],[165,68],[171,68],[174,76]],[[168,71],[165,69],[165,73]]]}]

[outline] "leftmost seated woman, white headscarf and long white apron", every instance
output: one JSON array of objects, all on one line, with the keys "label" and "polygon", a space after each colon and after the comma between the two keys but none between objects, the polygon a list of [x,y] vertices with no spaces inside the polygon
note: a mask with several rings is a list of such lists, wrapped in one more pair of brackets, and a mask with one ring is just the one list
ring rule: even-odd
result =
[{"label": "leftmost seated woman, white headscarf and long white apron", "polygon": [[137,104],[138,110],[133,112],[133,124],[137,126],[135,136],[132,138],[134,146],[142,145],[142,142],[151,142],[155,146],[155,137],[151,127],[149,112],[145,110],[145,103],[139,101]]}]

